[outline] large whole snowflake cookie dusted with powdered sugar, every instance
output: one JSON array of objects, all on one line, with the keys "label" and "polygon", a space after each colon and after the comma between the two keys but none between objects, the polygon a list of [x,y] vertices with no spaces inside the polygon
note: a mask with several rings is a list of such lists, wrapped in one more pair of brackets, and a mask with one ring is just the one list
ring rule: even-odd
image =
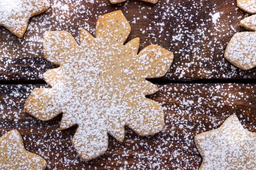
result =
[{"label": "large whole snowflake cookie dusted with powdered sugar", "polygon": [[128,125],[141,136],[163,128],[162,106],[145,98],[158,91],[146,78],[162,77],[173,54],[157,45],[138,53],[139,38],[124,45],[131,27],[122,14],[105,14],[96,38],[81,30],[80,45],[65,31],[44,34],[44,57],[59,68],[44,73],[52,88],[35,88],[25,111],[41,120],[63,113],[61,129],[79,125],[72,143],[87,161],[108,148],[108,133],[119,142]]}]

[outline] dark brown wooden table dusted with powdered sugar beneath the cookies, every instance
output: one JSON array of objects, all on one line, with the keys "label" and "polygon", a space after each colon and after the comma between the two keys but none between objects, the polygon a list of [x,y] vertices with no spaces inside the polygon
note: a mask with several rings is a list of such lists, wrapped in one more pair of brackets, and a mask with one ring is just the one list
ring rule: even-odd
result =
[{"label": "dark brown wooden table dusted with powdered sugar beneath the cookies", "polygon": [[[245,31],[239,22],[247,14],[235,0],[159,0],[155,5],[51,0],[51,5],[30,19],[22,39],[0,28],[0,136],[18,129],[26,149],[47,160],[47,169],[196,170],[201,164],[196,134],[219,127],[233,113],[256,132],[256,68],[242,71],[224,59],[230,38]],[[109,136],[107,153],[83,162],[71,144],[76,127],[60,130],[61,115],[42,122],[23,106],[33,88],[49,87],[42,74],[56,67],[43,57],[44,32],[64,30],[79,40],[81,28],[94,35],[97,18],[118,9],[131,24],[129,40],[140,37],[140,49],[154,43],[175,54],[168,73],[149,80],[160,91],[148,98],[163,104],[166,123],[162,132],[147,137],[127,127],[124,142]]]}]

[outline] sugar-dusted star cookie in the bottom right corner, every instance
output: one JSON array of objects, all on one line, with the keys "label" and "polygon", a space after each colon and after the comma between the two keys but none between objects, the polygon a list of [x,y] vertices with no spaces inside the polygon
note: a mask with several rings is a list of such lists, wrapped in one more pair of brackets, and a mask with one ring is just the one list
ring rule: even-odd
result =
[{"label": "sugar-dusted star cookie in the bottom right corner", "polygon": [[245,130],[236,115],[195,136],[195,143],[203,157],[200,170],[256,170],[256,133]]}]

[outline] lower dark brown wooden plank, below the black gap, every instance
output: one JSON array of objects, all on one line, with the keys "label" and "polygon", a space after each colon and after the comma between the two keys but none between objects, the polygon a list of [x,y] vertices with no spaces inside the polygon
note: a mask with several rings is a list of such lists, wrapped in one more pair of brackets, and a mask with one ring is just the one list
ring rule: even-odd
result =
[{"label": "lower dark brown wooden plank, below the black gap", "polygon": [[47,85],[0,85],[0,136],[18,129],[27,150],[43,156],[50,170],[166,169],[196,170],[201,164],[193,138],[219,127],[236,113],[242,125],[256,132],[256,84],[169,84],[148,96],[163,104],[166,124],[162,132],[137,136],[128,127],[125,140],[109,136],[104,155],[83,162],[73,150],[76,127],[60,130],[61,116],[42,122],[23,111],[30,91]]}]

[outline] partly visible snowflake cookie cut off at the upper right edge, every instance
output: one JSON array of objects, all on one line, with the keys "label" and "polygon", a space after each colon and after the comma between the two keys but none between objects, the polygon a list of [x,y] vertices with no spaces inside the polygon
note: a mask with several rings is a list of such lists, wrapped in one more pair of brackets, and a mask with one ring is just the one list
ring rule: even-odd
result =
[{"label": "partly visible snowflake cookie cut off at the upper right edge", "polygon": [[[242,9],[247,9],[246,11],[251,11],[251,13],[253,13],[252,10],[256,12],[256,0],[238,0],[237,3],[238,5],[243,3],[254,4],[254,7],[250,5],[248,8]],[[241,8],[241,6],[239,7]],[[250,31],[256,31],[256,15],[244,18],[240,24]],[[228,43],[224,57],[233,65],[243,70],[254,68],[256,66],[256,33],[236,33]]]}]

